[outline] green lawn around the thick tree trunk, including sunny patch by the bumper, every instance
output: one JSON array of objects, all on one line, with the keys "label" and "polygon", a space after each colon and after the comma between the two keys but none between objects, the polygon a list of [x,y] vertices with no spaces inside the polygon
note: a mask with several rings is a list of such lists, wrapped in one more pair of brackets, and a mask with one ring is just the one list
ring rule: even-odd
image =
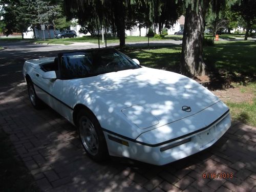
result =
[{"label": "green lawn around the thick tree trunk, including sunny patch by the bumper", "polygon": [[[212,47],[204,47],[204,59],[209,65],[225,71],[226,78],[244,82],[250,78],[248,86],[241,86],[241,91],[254,94],[251,102],[227,102],[233,119],[256,126],[256,42],[255,41],[219,41]],[[181,47],[157,49],[127,49],[125,54],[137,58],[141,65],[157,69],[177,71],[181,56]],[[225,78],[225,77],[224,77]],[[253,91],[254,90],[254,91]]]}]

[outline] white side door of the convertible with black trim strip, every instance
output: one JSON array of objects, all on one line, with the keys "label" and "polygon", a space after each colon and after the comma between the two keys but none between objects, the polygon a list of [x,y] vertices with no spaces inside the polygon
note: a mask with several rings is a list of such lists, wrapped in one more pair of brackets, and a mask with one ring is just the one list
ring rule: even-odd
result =
[{"label": "white side door of the convertible with black trim strip", "polygon": [[62,114],[62,85],[61,79],[45,79],[42,75],[45,73],[40,68],[33,72],[33,83],[37,96],[47,103],[52,109]]}]

